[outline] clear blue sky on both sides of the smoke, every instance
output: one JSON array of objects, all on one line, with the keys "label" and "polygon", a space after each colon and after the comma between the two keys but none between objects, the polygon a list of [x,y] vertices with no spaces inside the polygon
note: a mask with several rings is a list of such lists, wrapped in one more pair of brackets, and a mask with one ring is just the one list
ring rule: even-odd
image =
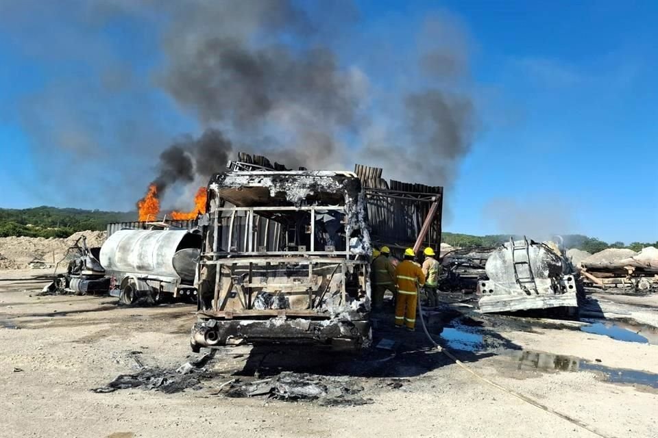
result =
[{"label": "clear blue sky on both sides of the smoke", "polygon": [[[404,68],[400,53],[413,51],[426,16],[448,14],[467,36],[479,129],[446,190],[445,229],[658,240],[658,3],[362,0],[356,8],[352,33],[334,49],[380,86],[395,86],[387,72]],[[101,31],[70,31],[71,18],[47,8],[15,14],[0,18],[0,207],[130,209],[154,176],[136,149],[156,152],[199,130],[156,85],[162,23],[118,16]],[[107,105],[89,105],[90,94]],[[79,118],[95,127],[93,139],[34,133],[35,120]],[[89,142],[121,146],[107,153]],[[90,153],[99,154],[93,168],[66,164]],[[98,174],[110,190],[94,190]]]}]

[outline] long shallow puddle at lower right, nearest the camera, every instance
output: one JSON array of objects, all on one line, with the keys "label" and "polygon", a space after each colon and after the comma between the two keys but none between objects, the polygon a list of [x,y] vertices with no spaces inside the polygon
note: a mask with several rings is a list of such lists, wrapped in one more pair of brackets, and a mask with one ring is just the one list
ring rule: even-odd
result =
[{"label": "long shallow puddle at lower right, nearest the camera", "polygon": [[539,370],[544,372],[596,372],[602,374],[605,381],[626,383],[630,385],[646,385],[658,389],[658,374],[650,372],[611,368],[600,363],[592,363],[573,356],[552,355],[537,351],[507,351],[502,357],[510,359],[514,367],[520,371]]}]

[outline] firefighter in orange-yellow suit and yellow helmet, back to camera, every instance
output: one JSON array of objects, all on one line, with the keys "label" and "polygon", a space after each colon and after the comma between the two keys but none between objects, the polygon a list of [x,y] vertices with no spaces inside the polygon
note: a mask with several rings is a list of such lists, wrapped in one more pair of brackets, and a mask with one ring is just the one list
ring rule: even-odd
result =
[{"label": "firefighter in orange-yellow suit and yellow helmet, back to camera", "polygon": [[395,302],[395,326],[413,331],[416,325],[416,305],[418,288],[425,284],[425,274],[416,263],[413,262],[415,253],[413,249],[404,250],[404,260],[395,268],[395,276],[398,281],[398,300]]}]

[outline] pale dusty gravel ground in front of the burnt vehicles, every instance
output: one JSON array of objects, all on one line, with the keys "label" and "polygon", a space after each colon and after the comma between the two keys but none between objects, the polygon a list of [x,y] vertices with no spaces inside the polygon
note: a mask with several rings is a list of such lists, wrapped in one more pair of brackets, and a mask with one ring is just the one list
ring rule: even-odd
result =
[{"label": "pale dusty gravel ground in front of the burnt vehicles", "polygon": [[[426,349],[408,349],[411,361],[391,360],[387,370],[398,374],[354,373],[371,401],[362,406],[217,395],[219,385],[247,368],[254,354],[247,347],[218,353],[209,365],[218,375],[197,389],[96,394],[91,389],[137,372],[135,356],[163,369],[195,359],[188,346],[195,307],[125,308],[108,297],[36,296],[43,283],[19,280],[26,274],[0,272],[0,279],[14,278],[0,281],[0,437],[596,437]],[[497,330],[523,348],[658,372],[658,346],[572,329]],[[400,344],[422,345],[422,337],[400,336]],[[610,383],[596,372],[520,369],[491,352],[455,353],[483,376],[606,437],[657,436],[656,389]],[[399,388],[387,385],[401,376]]]}]

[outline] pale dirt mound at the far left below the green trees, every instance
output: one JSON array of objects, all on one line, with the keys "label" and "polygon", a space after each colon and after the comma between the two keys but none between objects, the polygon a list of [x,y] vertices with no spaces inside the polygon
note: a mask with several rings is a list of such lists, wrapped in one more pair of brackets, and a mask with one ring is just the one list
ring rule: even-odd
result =
[{"label": "pale dirt mound at the far left below the green trees", "polygon": [[[69,249],[82,236],[87,238],[87,246],[93,248],[105,242],[105,231],[78,231],[65,239],[51,237],[0,237],[0,269],[25,269],[33,266],[53,268],[64,258]],[[62,266],[60,266],[62,269]],[[64,267],[66,269],[66,267]]]}]

